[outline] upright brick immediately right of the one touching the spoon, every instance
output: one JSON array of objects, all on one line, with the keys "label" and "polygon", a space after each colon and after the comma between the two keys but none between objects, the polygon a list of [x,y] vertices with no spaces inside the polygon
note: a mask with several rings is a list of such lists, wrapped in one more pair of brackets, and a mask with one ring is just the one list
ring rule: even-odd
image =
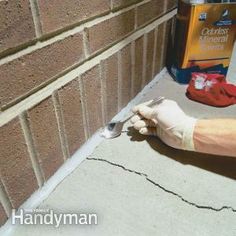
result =
[{"label": "upright brick immediately right of the one touching the spoon", "polygon": [[130,44],[123,48],[121,54],[121,108],[125,107],[131,99],[131,78],[132,78],[132,63],[131,63],[131,46]]}]

